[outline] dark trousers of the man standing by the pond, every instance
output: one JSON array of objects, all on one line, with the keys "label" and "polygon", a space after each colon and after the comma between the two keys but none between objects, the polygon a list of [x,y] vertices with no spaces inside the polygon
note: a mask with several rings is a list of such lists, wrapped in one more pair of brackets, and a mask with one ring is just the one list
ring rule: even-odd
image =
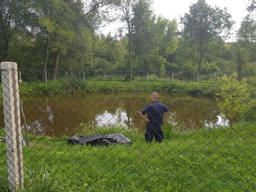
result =
[{"label": "dark trousers of the man standing by the pond", "polygon": [[161,125],[159,123],[156,124],[148,124],[146,126],[146,132],[145,132],[145,140],[146,142],[152,142],[153,137],[155,136],[156,142],[161,143],[163,139],[163,131],[161,128]]}]

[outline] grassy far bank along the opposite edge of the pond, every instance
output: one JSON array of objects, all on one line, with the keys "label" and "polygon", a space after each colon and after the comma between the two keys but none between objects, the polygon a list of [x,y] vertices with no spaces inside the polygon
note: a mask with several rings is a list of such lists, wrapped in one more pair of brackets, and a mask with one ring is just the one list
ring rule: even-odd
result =
[{"label": "grassy far bank along the opposite edge of the pond", "polygon": [[20,94],[56,94],[56,93],[78,93],[78,92],[166,92],[187,93],[215,96],[221,84],[197,83],[197,82],[121,82],[121,81],[51,81],[50,83],[28,82],[20,85]]}]

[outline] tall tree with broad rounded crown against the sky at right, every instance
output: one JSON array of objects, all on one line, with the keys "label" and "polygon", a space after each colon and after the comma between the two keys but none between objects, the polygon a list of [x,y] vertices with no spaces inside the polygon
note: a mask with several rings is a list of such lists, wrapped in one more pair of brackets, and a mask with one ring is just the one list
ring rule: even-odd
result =
[{"label": "tall tree with broad rounded crown against the sky at right", "polygon": [[234,23],[230,18],[226,8],[212,8],[205,0],[198,0],[189,7],[189,13],[181,17],[181,23],[184,25],[182,38],[190,41],[192,53],[199,53],[198,70],[201,70],[210,43],[222,42],[229,35]]}]

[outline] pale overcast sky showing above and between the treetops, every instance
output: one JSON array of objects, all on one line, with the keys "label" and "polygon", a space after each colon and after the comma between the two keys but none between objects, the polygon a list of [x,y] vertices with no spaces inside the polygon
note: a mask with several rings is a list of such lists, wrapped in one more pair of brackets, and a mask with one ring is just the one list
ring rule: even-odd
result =
[{"label": "pale overcast sky showing above and between the treetops", "polygon": [[[180,22],[180,15],[184,16],[184,13],[188,13],[189,6],[196,2],[197,0],[154,0],[153,10],[157,16],[162,15],[170,20],[176,18]],[[234,31],[239,29],[240,22],[248,14],[245,11],[248,4],[247,0],[206,0],[206,3],[211,5],[211,7],[217,5],[221,9],[227,7],[227,12],[231,14],[232,20],[236,22],[233,26]],[[102,29],[102,33],[106,35],[108,32],[111,32],[114,35],[116,29],[120,26],[122,25],[118,23],[109,24]]]}]

